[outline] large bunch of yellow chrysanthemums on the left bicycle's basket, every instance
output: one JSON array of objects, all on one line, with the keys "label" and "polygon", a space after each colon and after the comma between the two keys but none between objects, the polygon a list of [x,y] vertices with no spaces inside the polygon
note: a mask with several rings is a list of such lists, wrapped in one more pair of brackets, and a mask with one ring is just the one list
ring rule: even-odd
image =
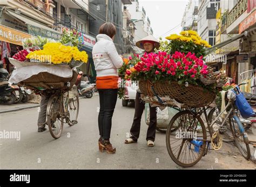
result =
[{"label": "large bunch of yellow chrysanthemums on the left bicycle's basket", "polygon": [[86,52],[80,52],[77,47],[64,46],[60,43],[47,43],[43,50],[31,52],[26,58],[41,62],[49,61],[53,64],[70,63],[72,59],[84,63],[88,61]]}]

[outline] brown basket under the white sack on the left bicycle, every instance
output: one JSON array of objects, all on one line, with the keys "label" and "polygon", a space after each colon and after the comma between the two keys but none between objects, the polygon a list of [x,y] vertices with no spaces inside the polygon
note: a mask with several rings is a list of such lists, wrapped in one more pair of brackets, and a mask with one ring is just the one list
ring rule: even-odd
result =
[{"label": "brown basket under the white sack on the left bicycle", "polygon": [[[19,82],[18,85],[23,85],[29,88],[43,90],[43,89],[59,89],[63,87],[72,87],[77,80],[77,73],[73,71],[73,76],[69,78],[59,77],[48,72],[42,72],[33,75],[30,78]],[[68,85],[69,82],[69,85]]]}]

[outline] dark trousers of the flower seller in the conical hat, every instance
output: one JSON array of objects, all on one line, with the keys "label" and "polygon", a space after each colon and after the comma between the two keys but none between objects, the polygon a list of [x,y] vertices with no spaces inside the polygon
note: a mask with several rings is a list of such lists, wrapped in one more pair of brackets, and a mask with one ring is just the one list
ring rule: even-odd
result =
[{"label": "dark trousers of the flower seller in the conical hat", "polygon": [[[130,130],[131,139],[137,141],[139,138],[140,132],[140,121],[142,119],[142,114],[144,111],[145,103],[142,99],[140,99],[140,93],[136,93],[135,99],[135,113],[133,118],[132,127]],[[154,141],[156,137],[156,127],[157,127],[157,107],[150,106],[150,124],[149,128],[147,128],[147,137],[146,140]]]}]

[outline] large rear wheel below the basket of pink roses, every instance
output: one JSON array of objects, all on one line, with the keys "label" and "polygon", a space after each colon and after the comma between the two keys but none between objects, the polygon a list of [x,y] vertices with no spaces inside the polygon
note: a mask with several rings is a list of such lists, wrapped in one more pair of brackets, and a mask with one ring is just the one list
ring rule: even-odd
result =
[{"label": "large rear wheel below the basket of pink roses", "polygon": [[192,167],[205,153],[206,130],[194,112],[177,113],[166,131],[166,147],[172,160],[181,167]]}]

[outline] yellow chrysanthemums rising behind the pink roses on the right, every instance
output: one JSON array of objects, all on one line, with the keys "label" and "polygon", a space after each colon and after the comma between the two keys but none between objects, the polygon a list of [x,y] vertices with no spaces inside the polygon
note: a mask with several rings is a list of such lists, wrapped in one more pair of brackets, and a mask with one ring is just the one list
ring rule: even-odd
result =
[{"label": "yellow chrysanthemums rising behind the pink roses on the right", "polygon": [[171,34],[169,37],[165,37],[167,40],[180,40],[185,42],[192,41],[196,45],[203,45],[205,47],[212,47],[207,41],[202,40],[196,31],[181,31],[180,35]]}]

